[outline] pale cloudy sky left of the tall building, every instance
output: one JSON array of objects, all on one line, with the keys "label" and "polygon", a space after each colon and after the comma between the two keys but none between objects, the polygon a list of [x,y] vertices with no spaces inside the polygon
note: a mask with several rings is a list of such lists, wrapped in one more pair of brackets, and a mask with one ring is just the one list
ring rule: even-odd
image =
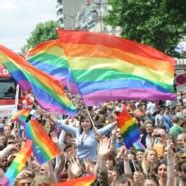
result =
[{"label": "pale cloudy sky left of the tall building", "polygon": [[0,0],[0,44],[18,52],[38,23],[56,20],[56,0]]}]

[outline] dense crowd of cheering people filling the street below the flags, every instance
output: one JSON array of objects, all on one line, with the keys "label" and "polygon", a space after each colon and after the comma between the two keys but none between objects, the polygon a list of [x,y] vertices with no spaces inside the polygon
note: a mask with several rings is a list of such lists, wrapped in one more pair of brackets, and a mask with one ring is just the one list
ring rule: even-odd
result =
[{"label": "dense crowd of cheering people filling the street below the flags", "polygon": [[[15,185],[49,185],[94,175],[101,186],[186,185],[186,105],[176,101],[111,101],[85,107],[80,96],[69,95],[78,115],[69,117],[42,110],[26,94],[21,108],[38,120],[61,154],[40,165],[32,157]],[[116,115],[125,109],[136,118],[145,148],[127,149]],[[0,179],[25,142],[24,128],[0,118]]]}]

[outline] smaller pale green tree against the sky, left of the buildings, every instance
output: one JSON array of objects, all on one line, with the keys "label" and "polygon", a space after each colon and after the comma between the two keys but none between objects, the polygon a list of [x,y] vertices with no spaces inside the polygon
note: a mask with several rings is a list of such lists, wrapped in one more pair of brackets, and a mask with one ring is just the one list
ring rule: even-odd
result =
[{"label": "smaller pale green tree against the sky, left of the buildings", "polygon": [[28,48],[32,48],[37,44],[57,38],[56,28],[59,27],[55,21],[47,21],[45,23],[39,23],[32,31],[31,36],[27,39],[27,44],[22,48],[25,51]]}]

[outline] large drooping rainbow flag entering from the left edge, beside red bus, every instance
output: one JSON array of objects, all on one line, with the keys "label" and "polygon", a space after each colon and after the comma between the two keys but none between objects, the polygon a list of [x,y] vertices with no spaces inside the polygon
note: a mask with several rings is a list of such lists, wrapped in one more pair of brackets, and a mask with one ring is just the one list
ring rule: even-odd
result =
[{"label": "large drooping rainbow flag entering from the left edge, beside red bus", "polygon": [[[54,111],[66,115],[75,115],[75,107],[65,94],[63,86],[51,76],[36,69],[29,64],[24,58],[0,45],[0,64],[7,67],[11,72],[11,67],[27,78],[32,87],[32,91],[37,102],[47,111]],[[13,77],[16,79],[14,73]],[[19,81],[18,81],[19,83]]]}]

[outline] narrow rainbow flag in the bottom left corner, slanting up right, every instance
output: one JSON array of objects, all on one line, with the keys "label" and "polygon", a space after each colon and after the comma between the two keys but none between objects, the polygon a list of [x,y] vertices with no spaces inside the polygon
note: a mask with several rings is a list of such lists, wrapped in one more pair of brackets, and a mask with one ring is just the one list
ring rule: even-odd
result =
[{"label": "narrow rainbow flag in the bottom left corner, slanting up right", "polygon": [[27,140],[12,164],[8,167],[5,176],[9,179],[9,185],[13,186],[17,175],[22,171],[32,153],[32,141]]}]

